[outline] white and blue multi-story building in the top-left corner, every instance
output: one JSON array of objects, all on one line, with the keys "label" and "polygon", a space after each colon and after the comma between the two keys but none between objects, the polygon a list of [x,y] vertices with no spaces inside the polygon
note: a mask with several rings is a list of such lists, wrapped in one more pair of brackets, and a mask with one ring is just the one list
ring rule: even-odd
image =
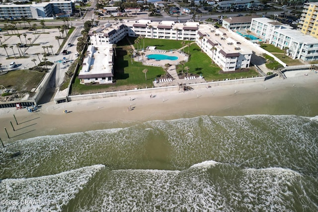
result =
[{"label": "white and blue multi-story building in the top-left corner", "polygon": [[50,1],[32,4],[0,4],[0,19],[54,19],[57,14],[68,16],[75,10],[72,1]]}]

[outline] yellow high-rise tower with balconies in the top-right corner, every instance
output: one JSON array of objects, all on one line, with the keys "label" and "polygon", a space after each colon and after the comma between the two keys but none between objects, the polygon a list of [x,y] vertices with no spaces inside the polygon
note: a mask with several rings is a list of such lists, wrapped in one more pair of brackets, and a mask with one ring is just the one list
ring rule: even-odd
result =
[{"label": "yellow high-rise tower with balconies in the top-right corner", "polygon": [[318,2],[304,4],[302,16],[297,28],[306,35],[318,38]]}]

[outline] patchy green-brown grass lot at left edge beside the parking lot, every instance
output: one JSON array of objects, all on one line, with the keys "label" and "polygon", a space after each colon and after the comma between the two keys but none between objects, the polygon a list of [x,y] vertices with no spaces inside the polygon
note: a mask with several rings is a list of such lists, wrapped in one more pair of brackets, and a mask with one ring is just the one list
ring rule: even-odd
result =
[{"label": "patchy green-brown grass lot at left edge beside the parking lot", "polygon": [[45,75],[45,72],[29,70],[9,71],[0,75],[0,85],[7,89],[16,89],[20,92],[29,92],[35,88]]}]

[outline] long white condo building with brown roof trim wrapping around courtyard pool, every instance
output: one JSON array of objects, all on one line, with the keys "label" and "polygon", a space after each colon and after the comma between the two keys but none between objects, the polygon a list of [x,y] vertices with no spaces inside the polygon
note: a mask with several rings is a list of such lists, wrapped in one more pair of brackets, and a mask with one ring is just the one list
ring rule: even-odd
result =
[{"label": "long white condo building with brown roof trim wrapping around courtyard pool", "polygon": [[[114,44],[125,36],[196,42],[223,71],[249,68],[252,50],[228,37],[225,29],[216,29],[199,22],[153,22],[151,20],[121,21],[93,27],[88,32],[91,45]],[[202,38],[201,38],[202,37]],[[142,45],[142,49],[146,47]]]}]

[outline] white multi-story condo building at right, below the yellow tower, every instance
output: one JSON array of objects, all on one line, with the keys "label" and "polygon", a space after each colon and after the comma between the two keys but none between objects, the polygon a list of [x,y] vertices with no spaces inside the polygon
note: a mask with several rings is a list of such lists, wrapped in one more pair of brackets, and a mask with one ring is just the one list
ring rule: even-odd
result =
[{"label": "white multi-story condo building at right, below the yellow tower", "polygon": [[263,42],[285,49],[293,59],[318,60],[318,39],[269,18],[253,18],[249,30]]}]

